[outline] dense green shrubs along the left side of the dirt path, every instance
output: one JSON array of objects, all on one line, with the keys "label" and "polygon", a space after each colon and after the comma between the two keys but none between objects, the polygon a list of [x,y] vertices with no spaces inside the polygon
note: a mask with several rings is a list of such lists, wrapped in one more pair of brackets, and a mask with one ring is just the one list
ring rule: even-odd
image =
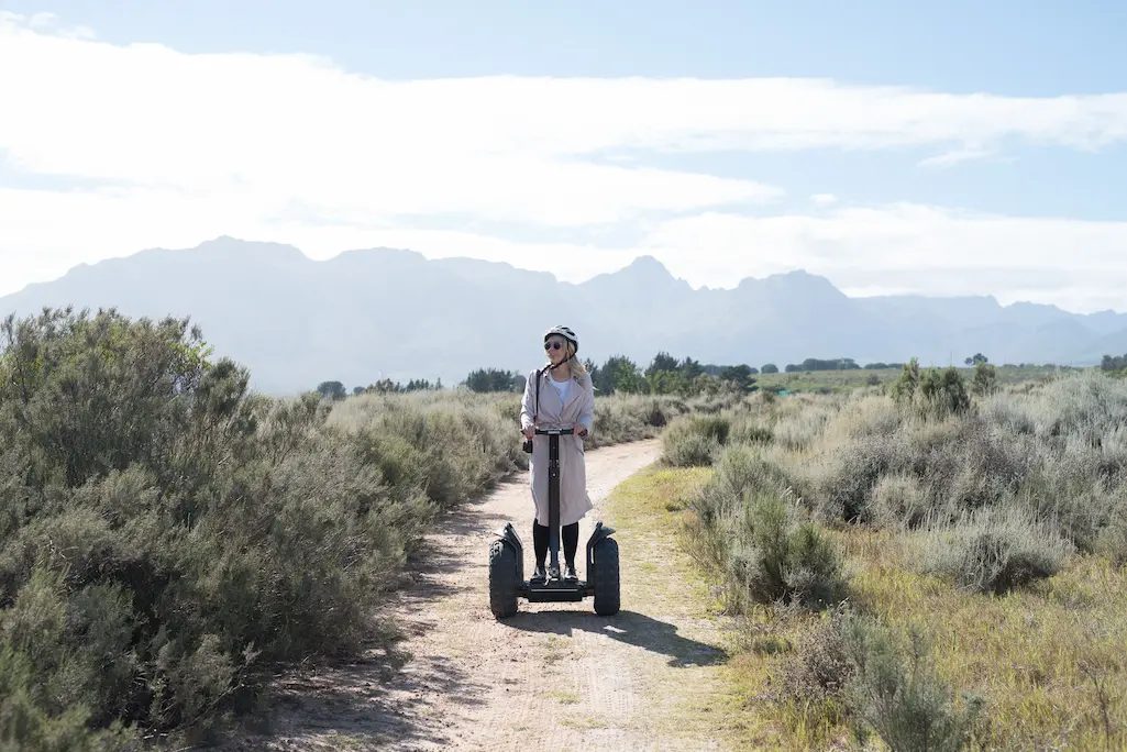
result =
[{"label": "dense green shrubs along the left side of the dirt path", "polygon": [[[434,515],[526,467],[520,395],[248,389],[185,320],[0,326],[0,740],[132,749],[250,708],[376,619]],[[734,391],[596,398],[588,445]]]}]

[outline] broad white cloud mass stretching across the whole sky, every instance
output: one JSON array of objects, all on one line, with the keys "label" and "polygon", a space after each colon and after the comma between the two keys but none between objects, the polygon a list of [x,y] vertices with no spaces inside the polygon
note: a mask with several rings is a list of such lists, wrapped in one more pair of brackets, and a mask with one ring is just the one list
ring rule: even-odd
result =
[{"label": "broad white cloud mass stretching across the whole sky", "polygon": [[[810,196],[814,215],[751,218],[740,212],[770,206],[781,188],[644,158],[915,145],[937,149],[924,161],[941,166],[1013,139],[1093,150],[1127,141],[1127,94],[957,96],[810,79],[385,81],[308,55],[188,55],[92,36],[55,17],[0,14],[0,159],[41,180],[100,184],[0,188],[0,293],[80,260],[231,235],[318,258],[387,245],[576,281],[653,253],[696,285],[802,266],[858,291],[1127,307],[1117,298],[1127,278],[1107,272],[1124,267],[1122,223],[840,209],[831,194]],[[426,229],[434,215],[464,218],[462,231]],[[481,222],[544,240],[499,240]],[[601,225],[642,240],[551,241]],[[1038,274],[1082,273],[1089,282],[1030,286]]]}]

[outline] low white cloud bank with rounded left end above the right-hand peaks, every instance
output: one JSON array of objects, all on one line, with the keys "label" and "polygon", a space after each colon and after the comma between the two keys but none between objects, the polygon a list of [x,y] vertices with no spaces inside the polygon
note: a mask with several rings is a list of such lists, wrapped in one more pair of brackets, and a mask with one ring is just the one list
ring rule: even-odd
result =
[{"label": "low white cloud bank with rounded left end above the right-hand peaks", "polygon": [[672,220],[645,244],[677,276],[731,286],[805,268],[848,294],[993,294],[1127,310],[1127,222],[1015,218],[914,204],[818,216]]}]

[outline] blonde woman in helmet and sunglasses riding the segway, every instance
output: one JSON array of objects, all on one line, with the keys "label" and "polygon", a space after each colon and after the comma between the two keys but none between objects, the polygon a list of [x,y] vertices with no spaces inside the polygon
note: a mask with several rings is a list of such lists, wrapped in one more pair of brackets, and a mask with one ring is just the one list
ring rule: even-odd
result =
[{"label": "blonde woman in helmet and sunglasses riding the segway", "polygon": [[[591,430],[595,414],[595,389],[591,375],[576,357],[579,339],[570,328],[558,326],[544,333],[548,364],[529,373],[521,406],[521,430],[532,440],[530,475],[535,516],[532,540],[536,551],[536,569],[531,582],[547,581],[548,558],[548,436],[535,435],[535,428],[575,428],[575,435],[560,436],[560,527],[564,539],[564,578],[578,580],[575,552],[579,546],[579,520],[594,508],[587,495],[587,471],[584,465],[583,437]],[[539,386],[539,406],[536,399]],[[558,577],[552,572],[552,577]]]}]

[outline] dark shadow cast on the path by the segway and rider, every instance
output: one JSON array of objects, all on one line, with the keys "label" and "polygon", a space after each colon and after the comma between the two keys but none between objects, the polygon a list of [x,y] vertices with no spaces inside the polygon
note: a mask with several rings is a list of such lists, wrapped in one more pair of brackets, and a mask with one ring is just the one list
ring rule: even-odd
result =
[{"label": "dark shadow cast on the path by the segway and rider", "polygon": [[550,635],[571,635],[575,630],[605,635],[666,655],[668,665],[675,667],[704,666],[728,660],[722,648],[682,637],[674,625],[636,611],[619,611],[613,617],[584,611],[520,611],[504,623],[513,629]]}]

